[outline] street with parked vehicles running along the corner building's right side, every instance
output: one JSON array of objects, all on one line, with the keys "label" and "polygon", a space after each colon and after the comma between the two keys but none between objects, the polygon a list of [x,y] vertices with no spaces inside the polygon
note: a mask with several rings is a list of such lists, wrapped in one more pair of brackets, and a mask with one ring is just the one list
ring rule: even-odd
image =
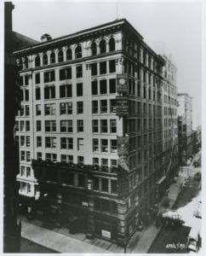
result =
[{"label": "street with parked vehicles running along the corner building's right side", "polygon": [[180,175],[186,175],[188,180],[182,186],[173,210],[180,214],[185,224],[175,229],[163,227],[148,253],[188,253],[187,236],[192,227],[199,230],[201,227],[201,218],[193,216],[193,212],[197,210],[197,204],[201,201],[201,180],[198,180],[197,172],[201,172],[200,167],[185,166],[183,172],[180,173]]}]

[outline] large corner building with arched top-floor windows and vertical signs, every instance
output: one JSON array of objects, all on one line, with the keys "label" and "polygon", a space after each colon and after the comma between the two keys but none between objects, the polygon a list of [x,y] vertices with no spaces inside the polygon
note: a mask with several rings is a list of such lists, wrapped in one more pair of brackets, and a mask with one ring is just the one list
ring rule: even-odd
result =
[{"label": "large corner building with arched top-floor windows and vertical signs", "polygon": [[163,57],[124,19],[45,34],[14,55],[20,195],[50,221],[123,245],[162,193]]}]

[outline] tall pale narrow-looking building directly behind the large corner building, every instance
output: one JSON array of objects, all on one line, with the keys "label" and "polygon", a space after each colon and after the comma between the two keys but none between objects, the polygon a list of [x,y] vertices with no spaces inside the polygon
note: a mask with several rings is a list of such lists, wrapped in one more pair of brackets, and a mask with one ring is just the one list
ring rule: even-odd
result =
[{"label": "tall pale narrow-looking building directly behind the large corner building", "polygon": [[163,55],[163,59],[163,162],[168,185],[178,174],[177,70],[171,55]]}]

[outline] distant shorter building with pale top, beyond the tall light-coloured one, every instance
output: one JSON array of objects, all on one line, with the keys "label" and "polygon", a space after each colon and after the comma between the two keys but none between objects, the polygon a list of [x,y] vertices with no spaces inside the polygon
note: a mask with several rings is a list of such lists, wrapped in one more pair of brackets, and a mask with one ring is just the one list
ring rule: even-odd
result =
[{"label": "distant shorter building with pale top, beyond the tall light-coloured one", "polygon": [[181,165],[193,154],[194,140],[192,132],[192,96],[180,93],[178,96],[178,139],[179,161]]}]

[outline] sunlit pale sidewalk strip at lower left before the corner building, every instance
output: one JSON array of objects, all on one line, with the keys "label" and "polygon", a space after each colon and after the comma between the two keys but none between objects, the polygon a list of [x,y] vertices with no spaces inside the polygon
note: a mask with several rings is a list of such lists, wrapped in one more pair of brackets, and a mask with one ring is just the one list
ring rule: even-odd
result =
[{"label": "sunlit pale sidewalk strip at lower left before the corner building", "polygon": [[109,253],[87,242],[22,221],[21,236],[59,253]]}]

